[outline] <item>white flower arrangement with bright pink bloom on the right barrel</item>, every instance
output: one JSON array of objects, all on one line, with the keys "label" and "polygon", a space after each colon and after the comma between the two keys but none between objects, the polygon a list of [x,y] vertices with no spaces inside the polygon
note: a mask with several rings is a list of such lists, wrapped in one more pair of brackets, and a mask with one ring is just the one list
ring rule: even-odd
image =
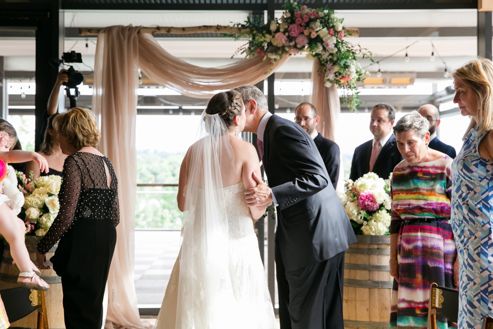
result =
[{"label": "white flower arrangement with bright pink bloom on the right barrel", "polygon": [[390,177],[368,173],[355,182],[346,180],[347,191],[339,199],[348,213],[355,234],[388,235],[390,227]]}]

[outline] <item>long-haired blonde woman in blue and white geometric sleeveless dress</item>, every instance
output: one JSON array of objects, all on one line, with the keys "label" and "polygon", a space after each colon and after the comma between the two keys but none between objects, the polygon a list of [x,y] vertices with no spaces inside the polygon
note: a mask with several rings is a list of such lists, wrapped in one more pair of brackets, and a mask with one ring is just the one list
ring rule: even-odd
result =
[{"label": "long-haired blonde woman in blue and white geometric sleeveless dress", "polygon": [[452,226],[459,254],[459,327],[493,316],[493,63],[470,61],[452,73],[455,98],[471,123],[452,164]]}]

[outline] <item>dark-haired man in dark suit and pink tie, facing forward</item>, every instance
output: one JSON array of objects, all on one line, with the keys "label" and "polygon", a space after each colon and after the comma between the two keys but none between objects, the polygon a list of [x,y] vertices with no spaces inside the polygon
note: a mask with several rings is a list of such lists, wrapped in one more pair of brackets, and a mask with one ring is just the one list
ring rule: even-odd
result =
[{"label": "dark-haired man in dark suit and pink tie, facing forward", "polygon": [[370,131],[373,139],[354,150],[350,179],[356,181],[369,172],[387,179],[397,163],[402,161],[392,132],[394,121],[395,108],[392,105],[380,103],[372,108]]}]

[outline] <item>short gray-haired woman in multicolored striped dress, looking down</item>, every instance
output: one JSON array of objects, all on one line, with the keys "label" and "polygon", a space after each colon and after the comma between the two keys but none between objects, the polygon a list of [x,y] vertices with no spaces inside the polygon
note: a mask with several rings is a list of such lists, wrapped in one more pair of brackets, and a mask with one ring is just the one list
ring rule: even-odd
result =
[{"label": "short gray-haired woman in multicolored striped dress, looking down", "polygon": [[[455,288],[457,259],[450,226],[450,166],[452,159],[428,147],[430,123],[418,112],[394,126],[397,147],[404,157],[391,182],[390,328],[427,328],[430,285]],[[437,316],[439,328],[454,326]]]}]

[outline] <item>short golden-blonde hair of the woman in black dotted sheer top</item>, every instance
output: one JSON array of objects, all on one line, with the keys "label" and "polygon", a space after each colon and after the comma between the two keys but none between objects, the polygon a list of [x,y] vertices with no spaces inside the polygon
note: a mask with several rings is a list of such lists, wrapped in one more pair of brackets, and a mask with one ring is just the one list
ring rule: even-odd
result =
[{"label": "short golden-blonde hair of the woman in black dotted sheer top", "polygon": [[57,115],[53,119],[53,127],[77,150],[86,146],[98,146],[101,137],[94,114],[80,107]]}]

